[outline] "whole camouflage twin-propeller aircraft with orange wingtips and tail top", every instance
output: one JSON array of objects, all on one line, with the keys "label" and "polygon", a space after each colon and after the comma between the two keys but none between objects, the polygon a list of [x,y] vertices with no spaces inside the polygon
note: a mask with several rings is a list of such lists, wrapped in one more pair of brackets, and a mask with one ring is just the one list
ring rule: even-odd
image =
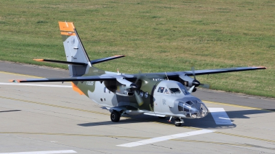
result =
[{"label": "whole camouflage twin-propeller aircraft with orange wingtips and tail top", "polygon": [[72,82],[73,89],[79,94],[86,95],[109,109],[112,122],[118,122],[123,114],[146,114],[159,118],[169,117],[170,120],[175,118],[175,126],[181,126],[184,118],[203,118],[208,114],[206,104],[191,95],[196,91],[196,87],[202,84],[190,76],[265,69],[265,67],[236,67],[150,74],[106,72],[93,65],[124,56],[111,56],[90,61],[74,24],[59,22],[59,28],[67,61],[34,60],[67,64],[70,78],[10,81],[15,83]]}]

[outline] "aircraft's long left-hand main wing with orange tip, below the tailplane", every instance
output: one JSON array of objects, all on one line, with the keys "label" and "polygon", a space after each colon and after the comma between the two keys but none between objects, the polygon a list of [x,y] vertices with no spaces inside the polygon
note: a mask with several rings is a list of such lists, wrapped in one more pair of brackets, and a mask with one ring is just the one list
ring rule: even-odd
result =
[{"label": "aircraft's long left-hand main wing with orange tip, below the tailplane", "polygon": [[10,80],[13,83],[38,83],[38,82],[69,82],[69,81],[104,81],[117,80],[117,78],[136,79],[132,75],[102,75],[102,76],[79,76],[72,78],[30,78],[24,80]]}]

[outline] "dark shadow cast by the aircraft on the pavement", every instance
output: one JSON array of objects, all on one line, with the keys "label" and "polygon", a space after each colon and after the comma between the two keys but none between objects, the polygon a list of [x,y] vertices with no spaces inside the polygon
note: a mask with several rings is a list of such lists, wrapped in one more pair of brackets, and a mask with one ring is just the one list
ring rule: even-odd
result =
[{"label": "dark shadow cast by the aircraft on the pavement", "polygon": [[[272,109],[269,109],[273,111]],[[242,110],[242,111],[227,111],[228,117],[232,121],[233,124],[216,124],[214,119],[212,118],[211,113],[208,113],[206,117],[201,119],[184,119],[184,124],[181,126],[192,126],[197,127],[200,129],[232,129],[236,127],[234,124],[234,120],[232,118],[241,118],[241,119],[250,119],[250,117],[245,115],[252,115],[252,114],[261,114],[261,113],[270,113],[270,111],[266,110]],[[174,126],[174,122],[168,122],[169,118],[159,119],[155,116],[150,115],[136,115],[136,116],[128,116],[123,115],[123,117],[127,117],[127,119],[121,118],[119,122],[111,122],[104,121],[104,122],[89,122],[84,124],[78,124],[78,126],[102,126],[102,125],[117,125],[117,124],[127,124],[127,123],[144,123],[144,122],[160,122],[164,124],[171,124]]]}]

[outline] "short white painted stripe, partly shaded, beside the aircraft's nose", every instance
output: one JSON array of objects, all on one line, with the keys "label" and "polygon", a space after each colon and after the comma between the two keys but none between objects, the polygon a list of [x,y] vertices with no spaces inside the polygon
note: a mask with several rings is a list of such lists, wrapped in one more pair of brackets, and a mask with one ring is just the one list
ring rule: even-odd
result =
[{"label": "short white painted stripe, partly shaded, beside the aircraft's nose", "polygon": [[232,124],[228,114],[223,108],[208,108],[216,124]]}]

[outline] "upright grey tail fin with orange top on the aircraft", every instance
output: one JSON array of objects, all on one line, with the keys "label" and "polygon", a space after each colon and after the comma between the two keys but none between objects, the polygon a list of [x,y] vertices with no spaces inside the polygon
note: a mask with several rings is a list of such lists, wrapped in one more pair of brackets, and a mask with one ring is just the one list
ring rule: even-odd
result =
[{"label": "upright grey tail fin with orange top on the aircraft", "polygon": [[89,72],[91,62],[72,22],[59,21],[66,58],[69,62],[85,63],[85,66],[68,65],[70,76],[83,76]]}]

